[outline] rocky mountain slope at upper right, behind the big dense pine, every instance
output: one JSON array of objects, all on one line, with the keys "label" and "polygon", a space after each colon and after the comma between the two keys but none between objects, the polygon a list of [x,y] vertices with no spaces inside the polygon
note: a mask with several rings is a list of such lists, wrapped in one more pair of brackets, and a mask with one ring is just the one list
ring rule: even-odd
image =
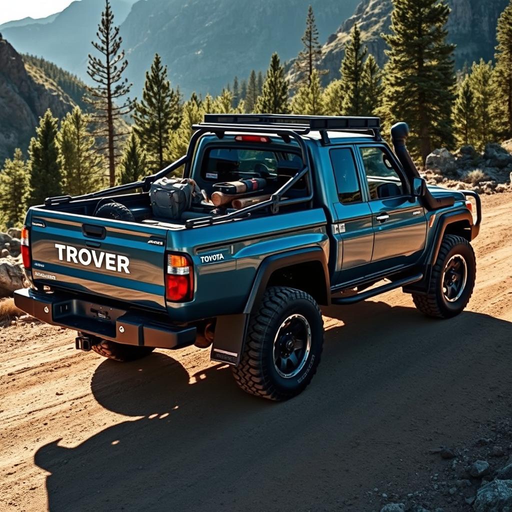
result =
[{"label": "rocky mountain slope at upper right, behind the big dense pine", "polygon": [[[508,0],[447,0],[447,4],[452,8],[447,28],[449,40],[457,45],[456,67],[462,68],[465,62],[471,65],[480,57],[491,59],[496,46],[496,23]],[[329,36],[323,47],[322,67],[329,70],[326,81],[339,76],[345,44],[355,23],[370,53],[382,65],[386,45],[380,34],[389,32],[392,10],[391,0],[362,0],[354,15]]]}]

